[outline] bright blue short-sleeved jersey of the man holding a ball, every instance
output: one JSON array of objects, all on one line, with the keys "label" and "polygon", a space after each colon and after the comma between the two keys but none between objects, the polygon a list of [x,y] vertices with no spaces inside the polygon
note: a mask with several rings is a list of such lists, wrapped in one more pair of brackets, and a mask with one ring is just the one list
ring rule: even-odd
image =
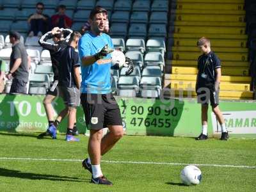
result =
[{"label": "bright blue short-sleeved jersey of the man holding a ball", "polygon": [[[84,56],[92,56],[108,44],[109,49],[114,49],[109,35],[102,33],[96,36],[92,33],[84,34],[78,43],[79,56],[82,61]],[[111,54],[97,60],[89,66],[81,63],[82,83],[81,93],[106,94],[111,92]]]}]

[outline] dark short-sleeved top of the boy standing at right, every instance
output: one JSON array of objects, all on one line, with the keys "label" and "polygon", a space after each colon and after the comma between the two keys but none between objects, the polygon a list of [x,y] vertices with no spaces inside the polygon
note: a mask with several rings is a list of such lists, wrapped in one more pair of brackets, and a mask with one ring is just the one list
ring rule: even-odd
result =
[{"label": "dark short-sleeved top of the boy standing at right", "polygon": [[198,57],[198,88],[208,87],[212,88],[216,81],[215,69],[220,68],[220,59],[214,54],[209,52],[208,54],[202,54]]}]

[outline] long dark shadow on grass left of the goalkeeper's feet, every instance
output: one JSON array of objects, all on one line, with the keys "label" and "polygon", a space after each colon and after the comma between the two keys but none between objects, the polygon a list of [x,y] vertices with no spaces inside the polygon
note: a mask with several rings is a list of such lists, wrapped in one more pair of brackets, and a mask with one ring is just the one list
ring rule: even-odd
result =
[{"label": "long dark shadow on grass left of the goalkeeper's feet", "polygon": [[19,170],[8,170],[6,168],[0,168],[0,176],[3,177],[16,177],[20,179],[31,179],[31,180],[56,180],[56,181],[70,181],[70,182],[84,182],[88,179],[80,179],[77,177],[66,177],[58,175],[45,175],[38,173],[24,173]]}]

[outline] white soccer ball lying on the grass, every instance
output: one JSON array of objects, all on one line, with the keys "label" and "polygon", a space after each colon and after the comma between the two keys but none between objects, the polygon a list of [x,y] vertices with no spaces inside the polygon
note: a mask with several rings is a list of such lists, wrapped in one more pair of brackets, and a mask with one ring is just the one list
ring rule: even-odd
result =
[{"label": "white soccer ball lying on the grass", "polygon": [[202,172],[194,165],[185,166],[180,173],[180,179],[186,185],[197,185],[202,179]]}]

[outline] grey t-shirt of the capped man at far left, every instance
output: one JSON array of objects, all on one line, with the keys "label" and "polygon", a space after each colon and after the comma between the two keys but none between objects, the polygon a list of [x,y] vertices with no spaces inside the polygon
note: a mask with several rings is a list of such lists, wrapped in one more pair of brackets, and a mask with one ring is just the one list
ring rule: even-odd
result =
[{"label": "grey t-shirt of the capped man at far left", "polygon": [[20,42],[12,47],[12,54],[10,56],[10,70],[12,69],[15,61],[19,58],[21,58],[20,66],[15,72],[13,72],[12,76],[16,79],[22,79],[24,82],[28,82],[28,53],[24,45]]}]

